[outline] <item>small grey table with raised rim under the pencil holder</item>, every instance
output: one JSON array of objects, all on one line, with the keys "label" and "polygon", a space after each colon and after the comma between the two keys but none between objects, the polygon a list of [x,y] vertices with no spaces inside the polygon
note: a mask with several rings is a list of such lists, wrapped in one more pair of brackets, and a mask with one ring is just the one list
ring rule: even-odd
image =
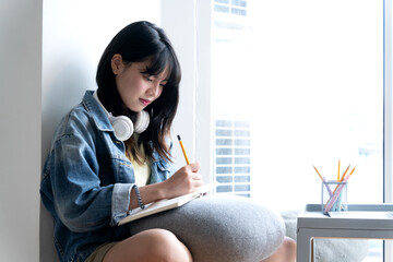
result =
[{"label": "small grey table with raised rim under the pencil holder", "polygon": [[297,222],[297,262],[313,261],[313,238],[393,239],[393,216],[382,215],[393,212],[393,204],[348,205],[348,212],[347,217],[329,217],[322,214],[321,204],[306,205]]}]

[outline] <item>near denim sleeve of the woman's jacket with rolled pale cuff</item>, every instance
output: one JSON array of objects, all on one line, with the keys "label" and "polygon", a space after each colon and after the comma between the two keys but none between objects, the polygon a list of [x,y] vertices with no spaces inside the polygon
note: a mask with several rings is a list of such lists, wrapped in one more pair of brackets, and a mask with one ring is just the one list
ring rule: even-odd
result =
[{"label": "near denim sleeve of the woman's jacket with rolled pale cuff", "polygon": [[73,231],[116,225],[127,215],[132,183],[100,186],[99,165],[88,133],[62,135],[51,152],[53,204]]}]

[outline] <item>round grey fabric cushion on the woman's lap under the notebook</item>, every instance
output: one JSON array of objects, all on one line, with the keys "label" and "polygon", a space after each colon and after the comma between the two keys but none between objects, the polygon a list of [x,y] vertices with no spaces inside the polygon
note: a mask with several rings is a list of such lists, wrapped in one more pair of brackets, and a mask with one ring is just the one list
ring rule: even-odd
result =
[{"label": "round grey fabric cushion on the woman's lap under the notebook", "polygon": [[134,235],[151,228],[174,233],[194,262],[255,262],[270,257],[285,236],[283,219],[248,198],[206,195],[130,223]]}]

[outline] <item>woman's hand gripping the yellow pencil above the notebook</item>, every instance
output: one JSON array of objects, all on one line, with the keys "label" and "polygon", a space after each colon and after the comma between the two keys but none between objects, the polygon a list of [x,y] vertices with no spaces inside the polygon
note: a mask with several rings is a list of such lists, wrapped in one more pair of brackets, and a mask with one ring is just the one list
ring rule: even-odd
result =
[{"label": "woman's hand gripping the yellow pencil above the notebook", "polygon": [[199,163],[191,163],[165,180],[163,182],[165,198],[170,199],[196,191],[203,184],[202,176],[198,172],[200,167]]}]

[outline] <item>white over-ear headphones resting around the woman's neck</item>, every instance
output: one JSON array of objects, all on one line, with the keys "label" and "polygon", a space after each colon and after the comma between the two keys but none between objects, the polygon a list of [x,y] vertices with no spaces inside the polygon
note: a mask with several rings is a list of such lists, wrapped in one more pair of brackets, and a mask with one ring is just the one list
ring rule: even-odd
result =
[{"label": "white over-ear headphones resting around the woman's neck", "polygon": [[138,112],[135,126],[131,121],[129,117],[126,116],[118,116],[114,117],[111,112],[108,112],[100,100],[98,99],[97,91],[93,93],[93,97],[98,102],[98,104],[103,107],[105,112],[109,118],[109,122],[114,127],[116,138],[121,141],[126,141],[131,138],[132,133],[142,133],[145,131],[150,123],[150,116],[148,112],[142,110]]}]

